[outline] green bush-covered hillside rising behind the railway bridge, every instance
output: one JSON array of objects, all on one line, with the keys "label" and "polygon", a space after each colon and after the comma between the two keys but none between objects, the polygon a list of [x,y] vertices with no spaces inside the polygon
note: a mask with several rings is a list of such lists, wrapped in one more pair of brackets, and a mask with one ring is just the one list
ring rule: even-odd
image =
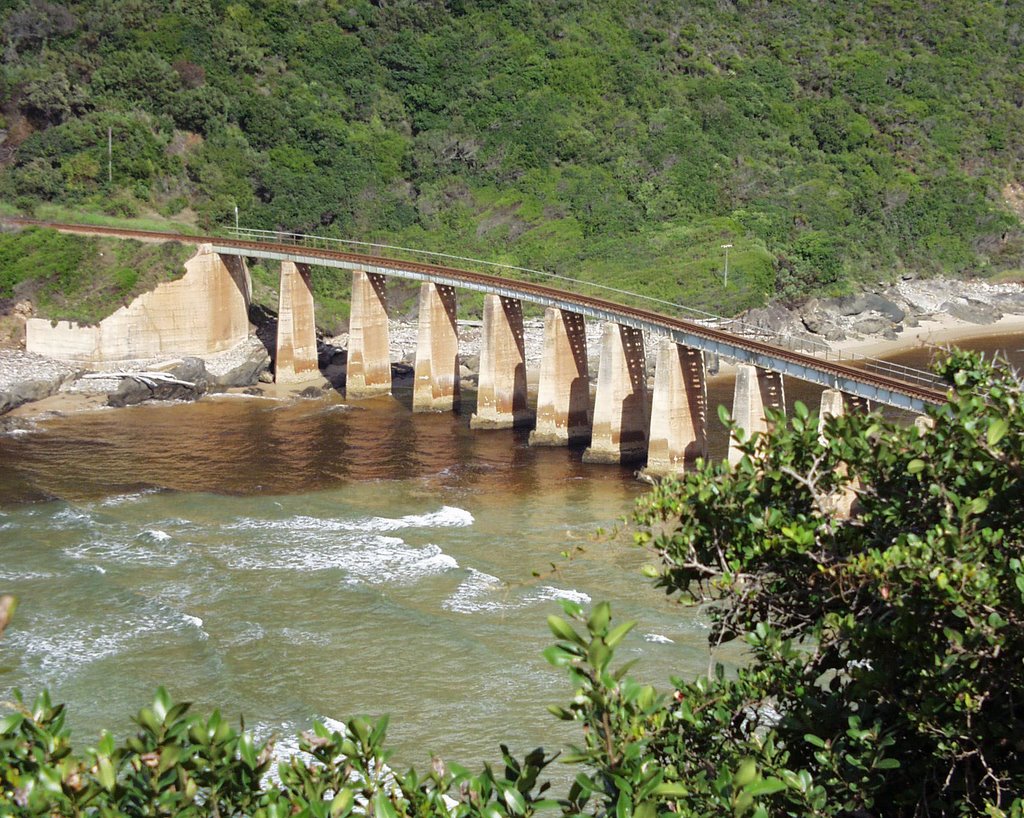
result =
[{"label": "green bush-covered hillside rising behind the railway bridge", "polygon": [[0,8],[0,197],[25,209],[238,206],[724,311],[1021,267],[1020,3]]}]

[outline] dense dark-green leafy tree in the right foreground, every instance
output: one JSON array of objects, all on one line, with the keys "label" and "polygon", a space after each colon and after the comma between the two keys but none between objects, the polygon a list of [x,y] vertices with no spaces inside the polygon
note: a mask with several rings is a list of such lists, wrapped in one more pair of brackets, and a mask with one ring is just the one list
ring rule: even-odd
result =
[{"label": "dense dark-green leafy tree in the right foreground", "polygon": [[1024,388],[975,353],[938,371],[931,430],[848,415],[819,436],[798,406],[735,471],[702,464],[642,502],[660,584],[709,606],[713,644],[751,648],[651,724],[684,782],[750,758],[780,814],[1019,814]]}]

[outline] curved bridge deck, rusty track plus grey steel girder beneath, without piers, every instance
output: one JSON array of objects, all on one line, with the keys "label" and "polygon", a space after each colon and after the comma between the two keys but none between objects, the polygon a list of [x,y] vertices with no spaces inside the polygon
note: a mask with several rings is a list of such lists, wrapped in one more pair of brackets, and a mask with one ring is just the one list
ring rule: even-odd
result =
[{"label": "curved bridge deck, rusty track plus grey steel girder beneath, without piers", "polygon": [[[210,244],[227,251],[243,251],[240,255],[262,255],[266,258],[300,261],[311,259],[313,260],[312,263],[315,263],[316,260],[323,260],[331,266],[345,266],[350,269],[364,269],[371,272],[380,270],[386,271],[387,274],[406,274],[408,277],[420,278],[422,281],[434,281],[441,284],[452,284],[453,286],[469,286],[474,290],[508,294],[512,297],[519,297],[542,305],[560,306],[561,308],[582,312],[594,317],[617,320],[617,322],[627,326],[650,330],[651,332],[667,335],[676,340],[677,343],[716,351],[740,362],[755,363],[764,369],[780,372],[783,375],[795,375],[812,383],[833,386],[846,392],[852,392],[862,397],[880,400],[910,411],[920,412],[926,405],[939,405],[946,402],[945,393],[939,389],[909,383],[890,375],[838,361],[822,360],[813,355],[803,354],[744,336],[733,335],[696,321],[676,318],[652,310],[631,307],[593,296],[568,293],[543,285],[510,281],[496,275],[455,267],[424,264],[422,262],[370,256],[359,253],[348,253],[339,250],[276,244],[272,242],[225,239],[215,235],[189,235],[186,233],[158,230],[134,230],[121,227],[69,224],[14,217],[0,217],[0,221],[51,227],[63,232],[111,235],[119,239]],[[247,250],[252,252],[245,253]],[[301,258],[297,259],[297,256],[301,256]],[[334,264],[330,264],[330,262],[334,262]],[[866,386],[868,389],[861,389],[858,386]]]}]

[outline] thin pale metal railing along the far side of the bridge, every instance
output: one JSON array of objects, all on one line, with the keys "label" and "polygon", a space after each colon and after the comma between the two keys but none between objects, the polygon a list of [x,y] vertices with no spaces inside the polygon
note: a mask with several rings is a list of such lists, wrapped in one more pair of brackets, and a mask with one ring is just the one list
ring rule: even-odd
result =
[{"label": "thin pale metal railing along the far side of the bridge", "polygon": [[783,349],[791,349],[795,352],[802,352],[806,355],[826,361],[837,361],[843,363],[853,363],[863,367],[870,372],[897,378],[907,383],[921,386],[945,389],[945,383],[927,370],[913,367],[906,367],[882,358],[861,355],[857,352],[833,349],[828,344],[811,338],[804,334],[783,333],[767,327],[751,324],[741,318],[728,318],[716,315],[713,312],[687,307],[674,301],[656,298],[654,296],[633,293],[628,290],[621,290],[608,285],[587,282],[574,278],[570,275],[551,272],[550,270],[532,269],[520,267],[514,264],[506,264],[499,261],[488,261],[486,259],[459,256],[452,253],[438,253],[429,250],[419,250],[416,248],[400,247],[378,242],[359,242],[350,239],[334,239],[326,235],[315,235],[312,233],[286,232],[282,230],[260,230],[250,227],[234,227],[233,225],[224,228],[225,232],[240,241],[250,242],[270,242],[280,245],[290,245],[296,248],[308,248],[319,250],[336,250],[342,252],[361,253],[365,255],[379,255],[426,264],[438,264],[449,266],[459,266],[463,269],[470,269],[477,272],[489,272],[500,274],[510,281],[522,281],[530,284],[557,285],[560,289],[578,295],[594,296],[606,298],[609,301],[623,304],[624,306],[635,306],[649,309],[670,317],[683,318],[685,320],[700,326],[723,330],[733,335],[752,340],[770,343]]}]

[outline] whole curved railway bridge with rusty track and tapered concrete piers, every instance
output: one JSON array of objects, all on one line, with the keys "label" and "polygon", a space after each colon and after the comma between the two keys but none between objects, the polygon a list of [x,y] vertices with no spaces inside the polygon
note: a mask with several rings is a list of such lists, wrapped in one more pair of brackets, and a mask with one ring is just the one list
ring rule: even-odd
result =
[{"label": "whole curved railway bridge with rusty track and tapered concrete piers", "polygon": [[[765,410],[784,405],[784,378],[825,388],[822,413],[841,414],[867,401],[921,413],[945,401],[945,389],[929,373],[861,356],[839,356],[806,339],[767,334],[718,316],[668,302],[637,304],[639,297],[538,270],[502,265],[482,272],[436,263],[455,257],[365,245],[323,236],[234,228],[225,235],[185,235],[91,225],[8,219],[68,232],[106,234],[141,241],[177,241],[239,267],[238,259],[261,258],[281,264],[275,378],[301,381],[317,372],[313,265],[351,271],[352,294],[346,397],[391,391],[387,281],[420,283],[419,329],[413,391],[414,412],[453,408],[459,397],[457,291],[483,294],[482,347],[477,429],[532,425],[531,445],[570,445],[589,440],[585,460],[632,463],[646,460],[649,474],[683,469],[688,459],[707,455],[706,358],[737,364],[733,419],[748,432],[764,431]],[[432,256],[428,263],[423,255]],[[473,260],[462,259],[472,263]],[[486,263],[486,262],[479,262]],[[549,281],[545,281],[547,277]],[[579,292],[584,290],[586,292]],[[648,301],[653,301],[648,299]],[[527,405],[523,303],[545,308],[544,351],[536,413]],[[591,400],[586,320],[603,325],[597,388]],[[654,385],[648,390],[644,335],[656,349]],[[730,447],[730,460],[738,458]]]}]

